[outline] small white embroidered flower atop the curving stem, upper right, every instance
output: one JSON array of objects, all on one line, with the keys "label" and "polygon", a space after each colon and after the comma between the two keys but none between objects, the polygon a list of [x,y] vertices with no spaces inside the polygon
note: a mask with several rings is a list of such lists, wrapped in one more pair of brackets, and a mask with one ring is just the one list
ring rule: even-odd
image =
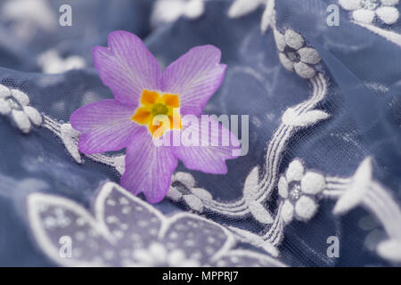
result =
[{"label": "small white embroidered flower atop the curving stem, upper right", "polygon": [[305,46],[301,35],[290,28],[284,34],[274,29],[274,39],[280,51],[279,59],[285,69],[295,70],[303,78],[315,77],[316,72],[313,66],[321,59],[314,48]]}]

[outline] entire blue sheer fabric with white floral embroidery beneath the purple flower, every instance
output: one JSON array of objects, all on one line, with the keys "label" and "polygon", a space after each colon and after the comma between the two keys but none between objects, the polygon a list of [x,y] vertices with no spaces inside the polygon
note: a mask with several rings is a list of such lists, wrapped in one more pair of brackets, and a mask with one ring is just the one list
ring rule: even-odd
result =
[{"label": "entire blue sheer fabric with white floral embroidery beneath the purple flower", "polygon": [[[387,26],[356,22],[356,9],[329,0],[121,1],[115,13],[72,1],[79,13],[100,10],[79,18],[96,32],[78,41],[78,29],[51,28],[57,1],[36,1],[42,8],[24,19],[12,13],[24,0],[0,6],[0,32],[20,31],[11,38],[21,44],[0,43],[0,265],[401,262],[399,20],[378,8]],[[343,8],[337,28],[325,24],[329,4]],[[121,16],[128,9],[135,20]],[[116,184],[124,151],[78,151],[70,114],[111,96],[90,47],[120,28],[143,37],[163,66],[194,45],[222,50],[225,80],[204,111],[250,115],[249,154],[227,162],[227,175],[179,166],[168,199],[151,206]],[[368,241],[358,228],[366,216],[377,232]],[[338,257],[326,255],[331,236]],[[65,237],[71,258],[60,256]]]}]

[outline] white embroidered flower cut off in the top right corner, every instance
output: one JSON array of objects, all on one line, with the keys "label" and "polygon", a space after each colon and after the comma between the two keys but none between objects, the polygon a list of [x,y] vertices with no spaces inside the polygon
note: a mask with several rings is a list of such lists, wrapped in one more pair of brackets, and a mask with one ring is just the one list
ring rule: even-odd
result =
[{"label": "white embroidered flower cut off in the top right corner", "polygon": [[399,12],[395,5],[399,0],[340,0],[340,5],[352,11],[352,17],[364,24],[370,24],[379,17],[384,23],[391,25],[397,22]]}]

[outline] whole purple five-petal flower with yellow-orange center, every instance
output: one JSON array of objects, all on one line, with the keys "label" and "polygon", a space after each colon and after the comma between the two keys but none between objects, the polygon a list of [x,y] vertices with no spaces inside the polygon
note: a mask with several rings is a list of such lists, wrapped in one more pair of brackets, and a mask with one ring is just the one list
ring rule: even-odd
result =
[{"label": "whole purple five-petal flower with yellow-orange center", "polygon": [[[151,203],[165,197],[178,159],[189,169],[225,174],[225,159],[237,157],[233,151],[240,143],[223,126],[210,131],[202,127],[199,146],[158,146],[153,142],[194,127],[185,126],[181,120],[185,115],[201,118],[201,110],[225,75],[220,50],[212,45],[194,47],[162,72],[135,35],[112,32],[108,42],[109,47],[94,48],[94,66],[115,99],[87,104],[71,115],[71,125],[81,133],[79,151],[93,154],[127,148],[120,183],[135,195],[143,192]],[[173,120],[154,126],[160,115]],[[231,140],[231,144],[203,143],[216,137]]]}]

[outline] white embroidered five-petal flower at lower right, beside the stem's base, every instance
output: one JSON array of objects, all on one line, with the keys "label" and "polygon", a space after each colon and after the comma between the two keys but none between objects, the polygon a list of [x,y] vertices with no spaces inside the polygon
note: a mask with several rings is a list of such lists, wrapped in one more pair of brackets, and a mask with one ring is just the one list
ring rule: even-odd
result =
[{"label": "white embroidered five-petal flower at lower right, beside the stem's base", "polygon": [[291,162],[285,175],[278,182],[279,195],[285,199],[282,206],[282,218],[289,224],[294,216],[300,221],[307,221],[317,211],[316,199],[325,188],[325,179],[313,171],[304,173],[299,159]]}]

